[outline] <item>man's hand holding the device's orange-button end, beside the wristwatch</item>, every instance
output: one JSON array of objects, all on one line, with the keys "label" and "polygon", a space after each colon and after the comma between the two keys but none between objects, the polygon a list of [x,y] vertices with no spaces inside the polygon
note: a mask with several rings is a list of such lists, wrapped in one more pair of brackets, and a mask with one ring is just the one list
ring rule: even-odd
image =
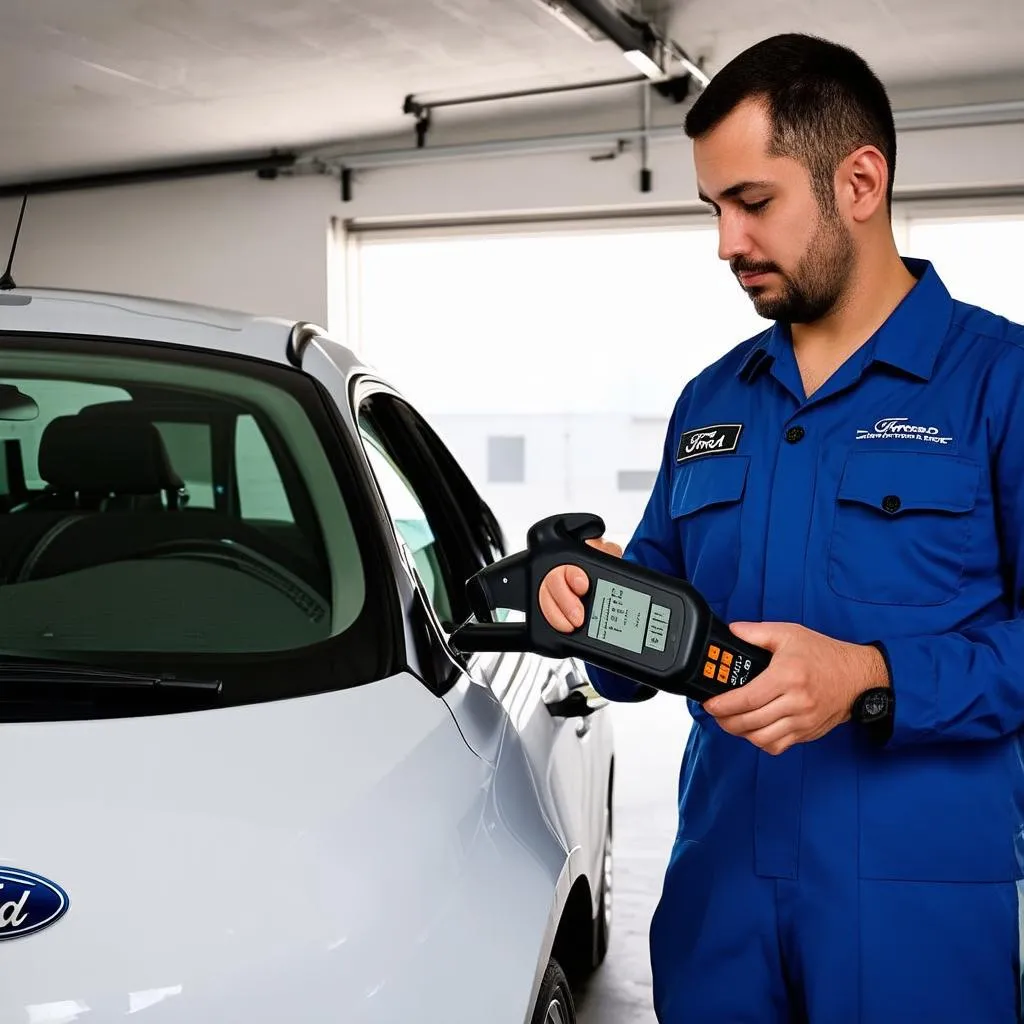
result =
[{"label": "man's hand holding the device's orange-button end, beside the wristwatch", "polygon": [[735,736],[768,754],[818,739],[850,718],[853,701],[872,686],[888,686],[874,647],[833,640],[793,623],[733,623],[741,640],[772,652],[756,679],[705,701],[705,710]]}]

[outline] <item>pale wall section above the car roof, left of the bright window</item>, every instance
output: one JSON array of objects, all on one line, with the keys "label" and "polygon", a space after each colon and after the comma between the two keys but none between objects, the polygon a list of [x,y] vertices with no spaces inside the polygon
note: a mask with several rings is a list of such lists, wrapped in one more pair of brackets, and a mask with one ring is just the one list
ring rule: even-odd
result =
[{"label": "pale wall section above the car roof, left of the bright window", "polygon": [[[231,175],[31,197],[14,280],[324,323],[336,195],[324,178]],[[19,206],[0,201],[4,264]]]}]

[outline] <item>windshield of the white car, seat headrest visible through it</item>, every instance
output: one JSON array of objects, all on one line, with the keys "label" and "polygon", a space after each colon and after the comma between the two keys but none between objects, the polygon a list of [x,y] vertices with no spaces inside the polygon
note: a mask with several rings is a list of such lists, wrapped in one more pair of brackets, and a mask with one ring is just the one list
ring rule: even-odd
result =
[{"label": "windshield of the white car, seat headrest visible through it", "polygon": [[341,637],[351,673],[378,671],[354,477],[307,377],[137,342],[0,346],[0,651],[220,674]]}]

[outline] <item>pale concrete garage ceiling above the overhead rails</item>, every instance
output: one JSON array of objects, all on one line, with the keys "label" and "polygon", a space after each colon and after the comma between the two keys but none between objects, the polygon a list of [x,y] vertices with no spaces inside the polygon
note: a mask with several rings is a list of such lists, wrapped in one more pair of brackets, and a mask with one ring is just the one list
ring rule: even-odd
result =
[{"label": "pale concrete garage ceiling above the overhead rails", "polygon": [[[794,28],[853,45],[895,87],[1022,71],[1020,0],[646,8],[665,10],[711,72]],[[396,132],[411,141],[408,93],[633,73],[612,44],[578,37],[536,0],[0,0],[0,17],[2,181]],[[492,131],[500,114],[474,111]]]}]

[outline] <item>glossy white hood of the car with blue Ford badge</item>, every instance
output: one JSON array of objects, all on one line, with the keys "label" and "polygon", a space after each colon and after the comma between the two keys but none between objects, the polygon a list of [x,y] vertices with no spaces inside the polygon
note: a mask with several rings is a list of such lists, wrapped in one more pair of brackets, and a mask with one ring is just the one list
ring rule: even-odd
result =
[{"label": "glossy white hood of the car with blue Ford badge", "polygon": [[[0,723],[0,937],[55,906],[47,883],[69,901],[0,941],[0,1020],[411,1019],[411,993],[457,984],[453,936],[478,931],[466,883],[489,771],[410,676]],[[31,904],[11,872],[43,880]]]}]

